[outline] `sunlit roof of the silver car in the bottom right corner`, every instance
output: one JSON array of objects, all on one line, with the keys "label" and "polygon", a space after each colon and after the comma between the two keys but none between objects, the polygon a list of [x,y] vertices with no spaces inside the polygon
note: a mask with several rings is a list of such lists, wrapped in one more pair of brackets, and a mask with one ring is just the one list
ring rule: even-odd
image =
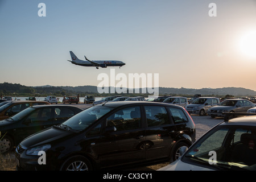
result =
[{"label": "sunlit roof of the silver car in the bottom right corner", "polygon": [[256,126],[256,115],[242,116],[233,119],[229,119],[221,125],[244,125],[244,126]]}]

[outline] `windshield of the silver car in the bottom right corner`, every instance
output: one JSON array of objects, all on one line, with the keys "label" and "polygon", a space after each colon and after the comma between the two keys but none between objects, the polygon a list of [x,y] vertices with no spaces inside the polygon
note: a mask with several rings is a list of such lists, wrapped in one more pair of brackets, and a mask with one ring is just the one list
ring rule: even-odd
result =
[{"label": "windshield of the silver car in the bottom right corner", "polygon": [[217,126],[201,137],[181,160],[217,169],[256,170],[256,127]]}]

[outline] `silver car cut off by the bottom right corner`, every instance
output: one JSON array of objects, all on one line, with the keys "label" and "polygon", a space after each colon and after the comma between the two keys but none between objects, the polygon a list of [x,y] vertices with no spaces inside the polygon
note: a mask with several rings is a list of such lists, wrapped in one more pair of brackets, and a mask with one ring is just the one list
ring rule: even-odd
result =
[{"label": "silver car cut off by the bottom right corner", "polygon": [[238,117],[210,129],[181,158],[159,171],[256,170],[256,117]]}]

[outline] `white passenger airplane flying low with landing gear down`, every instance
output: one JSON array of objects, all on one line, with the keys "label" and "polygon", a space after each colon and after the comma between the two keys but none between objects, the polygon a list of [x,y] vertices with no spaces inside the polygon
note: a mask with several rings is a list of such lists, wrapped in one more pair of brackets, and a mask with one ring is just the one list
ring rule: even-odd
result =
[{"label": "white passenger airplane flying low with landing gear down", "polygon": [[96,69],[98,69],[98,67],[101,68],[106,68],[106,67],[119,67],[121,68],[123,65],[125,65],[125,63],[123,63],[122,61],[113,61],[113,60],[98,60],[98,61],[91,61],[88,60],[85,56],[85,60],[80,60],[77,58],[77,56],[75,55],[75,53],[73,53],[72,51],[69,51],[70,55],[71,55],[71,60],[70,61],[72,64],[76,64],[76,65],[80,65],[80,66],[84,66],[84,67],[96,67]]}]

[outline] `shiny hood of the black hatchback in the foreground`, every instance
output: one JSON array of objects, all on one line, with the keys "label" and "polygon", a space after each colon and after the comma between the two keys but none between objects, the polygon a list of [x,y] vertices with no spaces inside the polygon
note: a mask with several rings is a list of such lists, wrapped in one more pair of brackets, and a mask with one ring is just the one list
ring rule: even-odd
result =
[{"label": "shiny hood of the black hatchback in the foreground", "polygon": [[25,138],[20,144],[22,144],[24,147],[31,148],[40,146],[42,144],[51,143],[57,139],[67,137],[68,135],[72,135],[72,132],[56,129],[54,126],[52,126],[46,130],[30,135],[30,137]]}]

